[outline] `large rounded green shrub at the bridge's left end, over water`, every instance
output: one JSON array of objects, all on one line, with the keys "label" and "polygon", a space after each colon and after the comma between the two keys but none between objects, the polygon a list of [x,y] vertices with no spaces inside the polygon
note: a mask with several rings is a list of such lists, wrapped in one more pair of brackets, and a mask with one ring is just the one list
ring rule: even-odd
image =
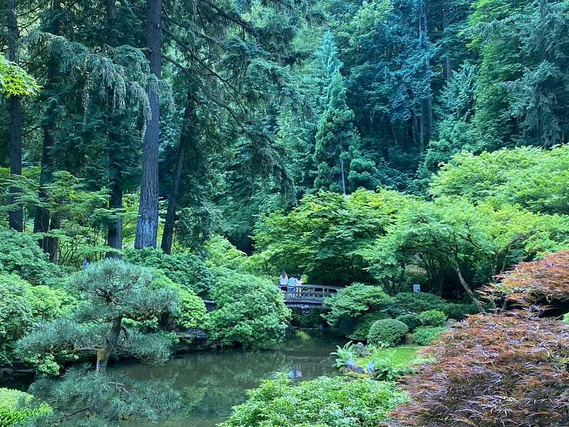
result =
[{"label": "large rounded green shrub at the bridge's left end, over water", "polygon": [[235,270],[213,270],[212,297],[217,308],[206,322],[211,339],[224,345],[270,347],[285,337],[290,310],[269,280]]}]

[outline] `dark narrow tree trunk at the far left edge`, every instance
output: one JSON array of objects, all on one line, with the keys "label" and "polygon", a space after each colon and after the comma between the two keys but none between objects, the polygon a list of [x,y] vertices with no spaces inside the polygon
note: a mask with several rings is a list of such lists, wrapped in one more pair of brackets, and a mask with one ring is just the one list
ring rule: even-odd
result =
[{"label": "dark narrow tree trunk at the far left edge", "polygon": [[[16,0],[8,0],[8,30],[9,30],[9,59],[18,63],[18,16],[16,14]],[[22,174],[22,117],[21,99],[19,96],[10,97],[10,173]],[[11,187],[10,193],[20,191],[17,187]],[[10,203],[16,201],[15,196],[10,197]],[[10,228],[23,231],[23,210],[18,206],[8,214]]]}]

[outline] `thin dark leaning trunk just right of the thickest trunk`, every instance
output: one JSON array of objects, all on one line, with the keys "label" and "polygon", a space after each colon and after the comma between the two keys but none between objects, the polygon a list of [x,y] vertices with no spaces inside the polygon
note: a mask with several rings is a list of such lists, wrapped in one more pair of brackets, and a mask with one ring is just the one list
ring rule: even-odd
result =
[{"label": "thin dark leaning trunk just right of the thickest trunk", "polygon": [[178,204],[178,194],[182,171],[184,170],[184,160],[186,159],[186,148],[190,142],[191,132],[191,112],[193,110],[193,97],[191,90],[188,90],[186,97],[186,110],[184,110],[184,122],[180,133],[180,144],[178,146],[178,158],[174,169],[174,181],[172,191],[168,199],[168,211],[166,211],[166,221],[164,222],[164,233],[162,234],[161,248],[164,253],[172,252],[172,239],[174,238],[174,221],[176,220],[176,207]]}]

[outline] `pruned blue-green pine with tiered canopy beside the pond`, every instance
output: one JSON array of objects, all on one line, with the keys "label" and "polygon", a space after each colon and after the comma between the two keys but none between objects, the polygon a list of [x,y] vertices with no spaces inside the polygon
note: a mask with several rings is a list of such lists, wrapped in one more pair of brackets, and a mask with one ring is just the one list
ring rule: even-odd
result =
[{"label": "pruned blue-green pine with tiered canopy beside the pond", "polygon": [[142,322],[168,313],[178,294],[159,283],[146,268],[108,258],[76,274],[70,292],[85,303],[72,317],[38,325],[18,342],[21,357],[57,374],[57,361],[88,354],[95,371],[105,372],[111,357],[126,355],[161,363],[170,354],[169,340],[153,334]]}]

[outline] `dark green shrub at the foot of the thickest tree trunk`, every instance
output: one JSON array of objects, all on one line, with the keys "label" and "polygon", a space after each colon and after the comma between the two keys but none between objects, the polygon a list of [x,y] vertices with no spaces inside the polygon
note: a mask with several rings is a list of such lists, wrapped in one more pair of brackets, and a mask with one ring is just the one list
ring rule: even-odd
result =
[{"label": "dark green shrub at the foot of the thickest tree trunk", "polygon": [[134,265],[161,270],[167,278],[184,289],[191,289],[200,297],[208,297],[212,284],[206,265],[191,253],[166,255],[160,249],[127,249],[122,257]]}]

